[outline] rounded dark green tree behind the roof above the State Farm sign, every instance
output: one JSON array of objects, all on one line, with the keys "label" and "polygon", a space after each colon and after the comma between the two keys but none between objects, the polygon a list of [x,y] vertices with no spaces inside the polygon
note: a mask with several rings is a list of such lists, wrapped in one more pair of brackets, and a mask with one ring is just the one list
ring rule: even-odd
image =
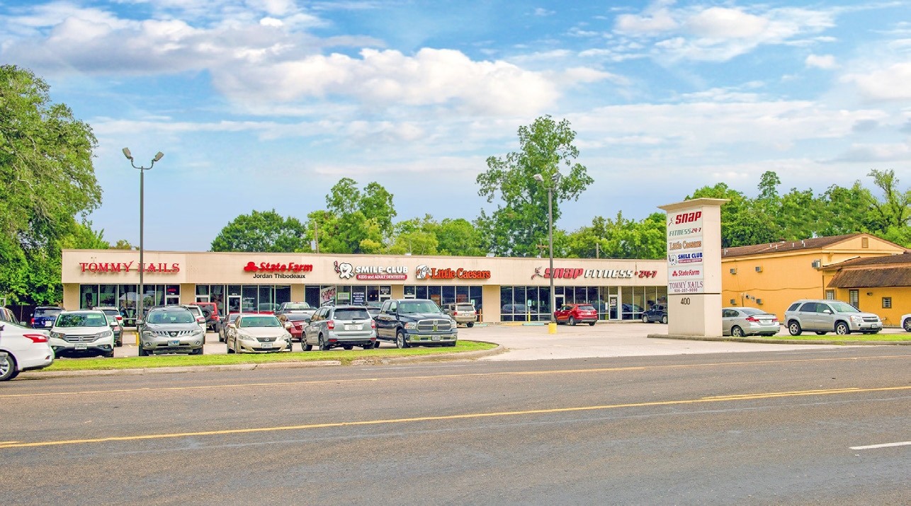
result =
[{"label": "rounded dark green tree behind the roof above the State Farm sign", "polygon": [[275,209],[254,210],[221,229],[212,240],[212,251],[292,253],[309,251],[307,230],[297,218],[282,218]]}]

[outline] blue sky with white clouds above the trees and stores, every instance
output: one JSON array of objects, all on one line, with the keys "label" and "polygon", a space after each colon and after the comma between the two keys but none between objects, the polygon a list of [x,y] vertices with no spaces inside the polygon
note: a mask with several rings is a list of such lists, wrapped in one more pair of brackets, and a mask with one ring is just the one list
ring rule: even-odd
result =
[{"label": "blue sky with white clouds above the trees and stores", "polygon": [[904,0],[0,0],[0,62],[93,127],[108,240],[138,244],[120,149],[165,153],[148,249],[206,250],[253,209],[304,219],[341,177],[390,190],[396,220],[475,218],[486,157],[543,115],[595,179],[568,230],[718,182],[754,196],[766,170],[782,192],[911,182]]}]

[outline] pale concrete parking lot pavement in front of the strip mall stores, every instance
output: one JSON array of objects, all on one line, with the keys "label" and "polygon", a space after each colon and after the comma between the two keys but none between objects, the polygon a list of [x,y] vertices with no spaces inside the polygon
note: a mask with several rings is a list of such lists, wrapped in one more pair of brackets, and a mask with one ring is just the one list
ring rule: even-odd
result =
[{"label": "pale concrete parking lot pavement in front of the strip mall stores", "polygon": [[[701,341],[688,339],[654,339],[650,335],[667,334],[668,326],[660,323],[599,323],[594,327],[580,325],[570,327],[559,325],[556,334],[548,334],[547,325],[476,325],[469,329],[459,328],[459,339],[493,342],[507,351],[489,356],[484,360],[535,360],[535,359],[579,359],[586,357],[637,357],[648,355],[685,355],[694,353],[737,353],[771,351],[783,349],[819,349],[819,344],[764,344],[729,341]],[[904,333],[902,329],[883,329],[883,334]],[[786,329],[778,333],[790,337]],[[115,357],[136,357],[135,334],[128,331],[124,345],[115,350]],[[383,342],[381,348],[394,348],[393,343]],[[294,343],[294,351],[301,352],[300,343]],[[352,353],[359,352],[353,349]],[[224,354],[227,348],[219,342],[215,332],[206,335],[205,353]],[[317,350],[311,353],[319,353]]]}]

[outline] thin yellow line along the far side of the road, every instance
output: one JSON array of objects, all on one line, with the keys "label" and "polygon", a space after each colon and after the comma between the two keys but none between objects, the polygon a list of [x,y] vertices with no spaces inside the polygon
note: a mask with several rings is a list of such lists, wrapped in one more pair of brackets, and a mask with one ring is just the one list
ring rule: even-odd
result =
[{"label": "thin yellow line along the far side of the road", "polygon": [[112,390],[75,390],[61,392],[44,392],[44,393],[11,393],[2,394],[0,399],[13,398],[31,398],[31,397],[53,397],[66,395],[89,395],[89,394],[108,394],[108,393],[128,393],[138,391],[172,391],[172,390],[210,390],[210,389],[240,389],[240,388],[259,388],[259,387],[281,387],[291,385],[320,385],[320,384],[339,384],[339,383],[358,383],[365,381],[392,381],[392,380],[445,380],[451,378],[483,378],[493,376],[542,376],[552,374],[579,374],[592,372],[620,372],[629,370],[655,370],[655,369],[690,369],[703,367],[719,366],[743,366],[743,365],[767,365],[767,364],[789,364],[801,362],[832,362],[846,360],[867,360],[867,359],[908,359],[911,355],[883,355],[876,357],[841,357],[825,359],[793,359],[793,360],[755,360],[740,362],[707,362],[701,364],[671,364],[663,366],[630,366],[616,368],[592,368],[592,369],[559,369],[559,370],[518,370],[502,372],[469,372],[466,374],[436,374],[425,376],[393,376],[388,378],[336,378],[333,380],[304,380],[304,381],[271,381],[260,383],[235,383],[225,385],[193,385],[189,387],[160,387],[138,389],[112,389]]}]

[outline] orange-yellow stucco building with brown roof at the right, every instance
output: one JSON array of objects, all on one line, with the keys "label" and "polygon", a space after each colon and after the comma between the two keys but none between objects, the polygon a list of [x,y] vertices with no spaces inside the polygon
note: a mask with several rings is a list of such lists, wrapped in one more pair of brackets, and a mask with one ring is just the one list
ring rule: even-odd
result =
[{"label": "orange-yellow stucco building with brown roof at the right", "polygon": [[722,304],[783,319],[794,300],[838,299],[899,325],[901,315],[911,313],[906,253],[870,234],[722,248]]}]

